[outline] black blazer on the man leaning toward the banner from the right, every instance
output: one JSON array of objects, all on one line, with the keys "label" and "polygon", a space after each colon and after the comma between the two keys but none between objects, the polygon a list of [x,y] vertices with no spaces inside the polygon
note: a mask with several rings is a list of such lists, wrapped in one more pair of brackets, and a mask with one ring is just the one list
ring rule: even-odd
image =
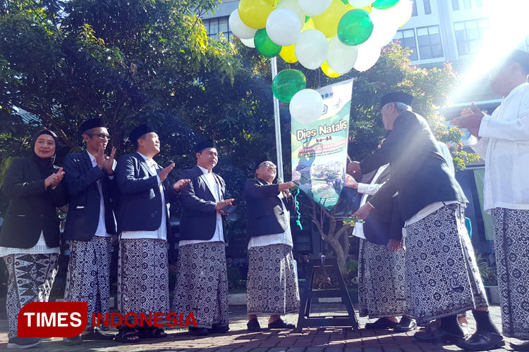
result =
[{"label": "black blazer on the man leaning toward the banner from the right", "polygon": [[430,126],[420,115],[400,113],[382,147],[360,162],[360,170],[367,173],[387,163],[391,178],[370,199],[375,208],[389,201],[396,191],[404,220],[437,201],[468,202],[442,157]]}]

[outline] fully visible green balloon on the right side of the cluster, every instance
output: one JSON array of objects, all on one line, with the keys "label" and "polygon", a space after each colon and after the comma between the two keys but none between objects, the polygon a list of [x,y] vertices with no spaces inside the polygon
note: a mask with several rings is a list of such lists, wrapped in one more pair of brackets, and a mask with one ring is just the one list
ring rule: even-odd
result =
[{"label": "fully visible green balloon on the right side of the cluster", "polygon": [[369,13],[361,8],[348,11],[338,23],[338,39],[346,45],[362,44],[372,32],[373,23]]}]

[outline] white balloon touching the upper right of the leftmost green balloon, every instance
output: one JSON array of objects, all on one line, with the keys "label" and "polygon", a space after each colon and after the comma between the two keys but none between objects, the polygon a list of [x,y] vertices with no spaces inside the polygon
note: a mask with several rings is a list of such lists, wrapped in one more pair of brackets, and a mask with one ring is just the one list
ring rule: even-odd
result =
[{"label": "white balloon touching the upper right of the leftmost green balloon", "polygon": [[267,18],[267,34],[272,42],[281,46],[296,43],[301,32],[298,15],[288,8],[276,8]]}]

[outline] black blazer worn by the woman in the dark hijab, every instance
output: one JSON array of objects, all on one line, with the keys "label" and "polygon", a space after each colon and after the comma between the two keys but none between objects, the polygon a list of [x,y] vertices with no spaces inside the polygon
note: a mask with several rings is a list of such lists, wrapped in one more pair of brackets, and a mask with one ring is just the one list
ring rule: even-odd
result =
[{"label": "black blazer worn by the woman in the dark hijab", "polygon": [[55,189],[46,189],[32,158],[14,159],[4,179],[9,206],[0,232],[0,246],[31,248],[37,244],[40,232],[44,233],[47,246],[59,246],[60,220],[56,207],[68,203],[63,183],[64,180]]}]

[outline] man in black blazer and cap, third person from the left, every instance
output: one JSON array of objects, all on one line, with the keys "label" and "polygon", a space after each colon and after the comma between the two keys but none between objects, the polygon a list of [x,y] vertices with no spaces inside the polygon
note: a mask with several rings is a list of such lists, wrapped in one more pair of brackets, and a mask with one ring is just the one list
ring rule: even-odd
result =
[{"label": "man in black blazer and cap, third person from the left", "polygon": [[[121,314],[169,312],[169,258],[167,242],[172,234],[169,203],[178,199],[189,180],[169,184],[174,163],[161,168],[152,158],[160,151],[158,134],[149,124],[136,127],[128,137],[136,153],[119,158],[116,183],[121,192],[118,206],[118,310]],[[116,339],[166,337],[159,328],[122,326]]]}]

